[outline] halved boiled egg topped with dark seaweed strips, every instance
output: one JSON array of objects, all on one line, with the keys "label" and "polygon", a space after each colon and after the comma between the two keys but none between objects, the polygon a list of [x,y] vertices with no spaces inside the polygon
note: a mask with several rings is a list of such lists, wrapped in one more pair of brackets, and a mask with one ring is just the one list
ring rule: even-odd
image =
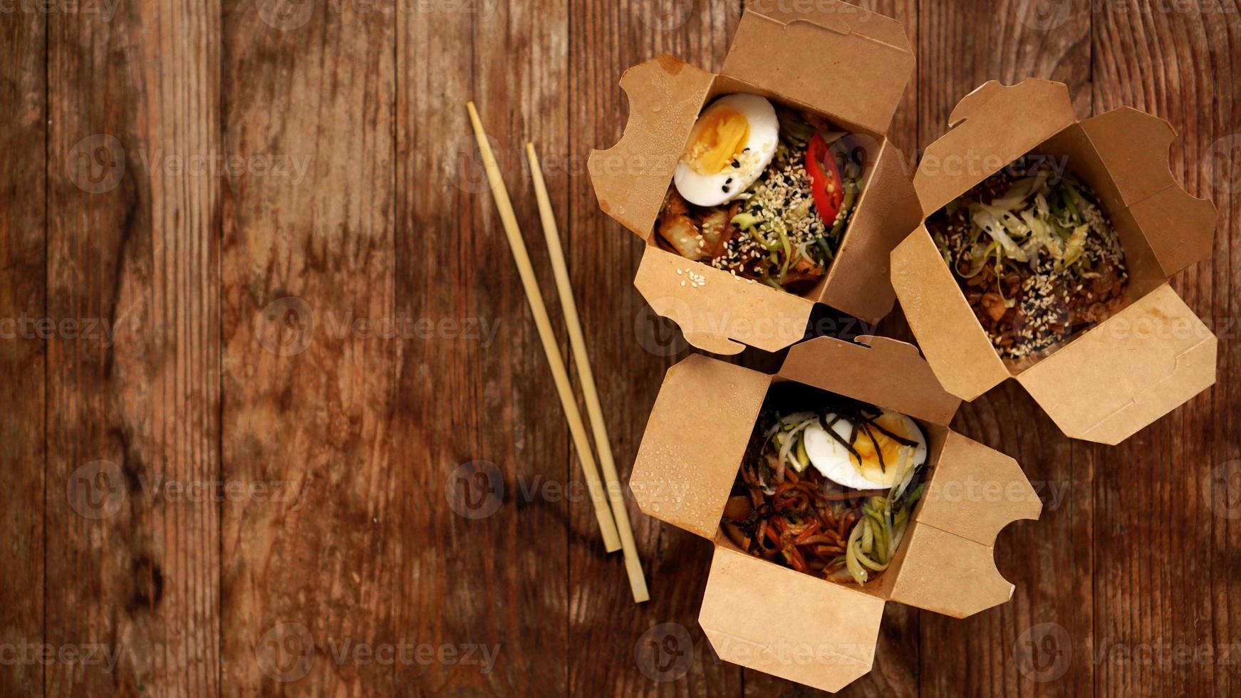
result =
[{"label": "halved boiled egg topped with dark seaweed strips", "polygon": [[[830,424],[834,414],[828,414]],[[839,419],[831,430],[839,439],[815,422],[805,428],[805,455],[810,465],[824,477],[838,485],[854,490],[887,490],[905,480],[910,470],[926,462],[927,439],[922,429],[908,417],[891,410],[882,410],[874,423],[880,426],[864,429],[862,424],[854,428],[846,419]],[[913,445],[902,444],[884,431],[895,434]],[[849,453],[841,441],[848,441],[856,455]],[[860,456],[860,460],[859,460]],[[882,456],[882,464],[880,462]]]}]

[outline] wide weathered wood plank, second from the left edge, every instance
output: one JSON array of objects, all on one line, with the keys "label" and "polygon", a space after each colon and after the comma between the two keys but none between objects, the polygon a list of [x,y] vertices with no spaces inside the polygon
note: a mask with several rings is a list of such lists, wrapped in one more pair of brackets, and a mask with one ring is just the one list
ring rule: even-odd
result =
[{"label": "wide weathered wood plank, second from the left edge", "polygon": [[[218,691],[218,12],[48,22],[48,694]],[[110,662],[118,662],[114,668]]]}]

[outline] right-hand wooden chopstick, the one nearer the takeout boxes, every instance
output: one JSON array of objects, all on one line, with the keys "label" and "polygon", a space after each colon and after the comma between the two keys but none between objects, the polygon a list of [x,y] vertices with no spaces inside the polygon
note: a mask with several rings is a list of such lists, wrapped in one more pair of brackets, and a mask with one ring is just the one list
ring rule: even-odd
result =
[{"label": "right-hand wooden chopstick, the one nearer the takeout boxes", "polygon": [[582,336],[582,322],[577,316],[577,303],[573,301],[573,289],[568,284],[568,268],[565,265],[565,250],[560,247],[560,232],[556,229],[556,216],[551,211],[547,197],[547,185],[542,179],[535,144],[526,144],[526,156],[530,160],[530,176],[535,182],[535,197],[539,200],[539,218],[542,221],[544,237],[547,238],[547,252],[551,257],[551,269],[556,275],[556,291],[560,294],[560,306],[565,311],[565,324],[568,325],[568,346],[573,352],[573,363],[582,382],[586,395],[586,414],[591,418],[591,431],[594,435],[594,448],[599,453],[599,467],[608,486],[608,500],[612,502],[612,517],[620,533],[620,546],[624,549],[624,567],[629,574],[629,589],[633,600],[643,603],[650,599],[647,591],[647,578],[642,574],[642,559],[638,558],[638,546],[633,542],[633,529],[629,527],[629,512],[624,506],[624,491],[617,476],[617,465],[612,459],[612,441],[603,422],[603,408],[599,405],[599,393],[594,386],[594,373],[591,371],[591,357],[586,353],[586,338]]}]

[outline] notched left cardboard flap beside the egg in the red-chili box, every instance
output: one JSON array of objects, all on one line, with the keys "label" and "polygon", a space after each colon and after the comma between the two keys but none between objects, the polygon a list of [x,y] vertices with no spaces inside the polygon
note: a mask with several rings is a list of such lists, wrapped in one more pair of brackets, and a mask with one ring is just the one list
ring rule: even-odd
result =
[{"label": "notched left cardboard flap beside the egg in the red-chili box", "polygon": [[620,140],[587,160],[599,208],[647,239],[673,181],[685,135],[697,120],[714,74],[669,55],[639,63],[620,77],[629,120]]}]

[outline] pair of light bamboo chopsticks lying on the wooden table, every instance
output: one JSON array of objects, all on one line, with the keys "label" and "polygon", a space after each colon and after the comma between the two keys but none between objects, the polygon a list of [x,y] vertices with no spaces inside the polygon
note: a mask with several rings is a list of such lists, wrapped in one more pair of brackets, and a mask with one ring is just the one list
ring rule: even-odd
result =
[{"label": "pair of light bamboo chopsticks lying on the wooden table", "polygon": [[[594,467],[594,457],[591,453],[589,441],[586,438],[586,425],[582,423],[582,414],[577,409],[577,400],[568,386],[568,371],[565,369],[565,358],[560,353],[556,343],[556,334],[551,329],[551,320],[547,317],[547,309],[544,306],[542,294],[539,293],[539,283],[535,279],[534,267],[530,265],[530,255],[526,253],[526,244],[517,228],[517,218],[513,212],[513,202],[509,201],[509,190],[500,177],[500,167],[491,154],[491,146],[486,141],[486,133],[483,123],[478,118],[474,103],[465,104],[469,110],[469,120],[474,126],[474,138],[478,140],[479,152],[483,155],[483,169],[486,170],[486,179],[491,185],[491,196],[495,198],[495,207],[500,212],[500,222],[504,223],[504,234],[509,238],[509,247],[513,249],[513,260],[517,264],[517,273],[521,275],[521,285],[526,291],[526,300],[530,303],[530,311],[535,316],[535,325],[539,327],[539,338],[542,342],[544,353],[547,355],[547,364],[551,367],[552,381],[556,383],[556,392],[560,393],[560,404],[565,409],[565,419],[568,422],[568,433],[573,438],[573,448],[577,457],[582,462],[582,476],[586,479],[586,488],[591,493],[594,503],[594,518],[599,522],[599,532],[603,534],[603,547],[609,553],[618,548],[624,548],[624,567],[629,575],[629,589],[633,591],[635,603],[647,601],[650,595],[647,593],[647,578],[642,574],[642,560],[638,559],[638,547],[633,542],[633,529],[629,527],[629,515],[625,511],[624,496],[620,490],[620,481],[617,477],[616,461],[612,459],[612,445],[608,440],[607,425],[603,423],[603,408],[599,405],[599,394],[594,387],[594,373],[591,372],[591,360],[586,353],[586,340],[582,337],[582,324],[577,317],[577,304],[573,303],[573,289],[568,285],[568,269],[565,267],[565,252],[560,247],[560,232],[556,229],[556,217],[551,211],[551,200],[547,198],[547,186],[544,183],[542,170],[539,167],[539,159],[535,155],[532,143],[526,144],[526,155],[530,160],[530,176],[535,183],[535,196],[539,200],[539,217],[542,221],[544,237],[547,239],[547,252],[551,255],[551,268],[556,276],[556,290],[560,294],[560,304],[565,310],[565,324],[568,325],[568,345],[573,352],[573,363],[577,366],[577,374],[582,381],[582,393],[586,395],[586,412],[591,418],[591,430],[594,435],[594,445],[599,451],[599,465],[603,467],[603,476],[607,479],[607,495],[599,481],[599,472]],[[611,508],[608,503],[611,502]],[[619,541],[618,541],[619,538]]]}]

